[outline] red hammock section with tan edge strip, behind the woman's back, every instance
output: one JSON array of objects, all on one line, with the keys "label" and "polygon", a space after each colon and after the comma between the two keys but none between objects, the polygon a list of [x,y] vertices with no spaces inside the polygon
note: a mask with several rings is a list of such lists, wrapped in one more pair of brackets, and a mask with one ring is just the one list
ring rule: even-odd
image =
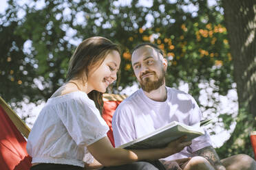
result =
[{"label": "red hammock section with tan edge strip, behind the woman's back", "polygon": [[31,158],[25,149],[30,129],[0,97],[0,169],[28,170]]}]

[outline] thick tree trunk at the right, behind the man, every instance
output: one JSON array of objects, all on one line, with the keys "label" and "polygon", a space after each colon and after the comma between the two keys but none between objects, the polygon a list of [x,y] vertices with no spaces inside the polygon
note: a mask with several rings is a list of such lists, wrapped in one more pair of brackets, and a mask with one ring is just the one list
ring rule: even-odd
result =
[{"label": "thick tree trunk at the right, behind the man", "polygon": [[256,1],[223,0],[222,4],[233,57],[239,114],[235,131],[220,152],[230,156],[247,150],[245,154],[253,156],[248,134],[256,130]]}]

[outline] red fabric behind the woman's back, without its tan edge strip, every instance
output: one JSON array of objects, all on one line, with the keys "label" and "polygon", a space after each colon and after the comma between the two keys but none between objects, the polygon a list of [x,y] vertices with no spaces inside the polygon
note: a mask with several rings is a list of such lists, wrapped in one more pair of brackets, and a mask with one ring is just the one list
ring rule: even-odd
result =
[{"label": "red fabric behind the woman's back, without its tan edge strip", "polygon": [[31,157],[25,149],[27,141],[0,106],[0,169],[28,170]]}]

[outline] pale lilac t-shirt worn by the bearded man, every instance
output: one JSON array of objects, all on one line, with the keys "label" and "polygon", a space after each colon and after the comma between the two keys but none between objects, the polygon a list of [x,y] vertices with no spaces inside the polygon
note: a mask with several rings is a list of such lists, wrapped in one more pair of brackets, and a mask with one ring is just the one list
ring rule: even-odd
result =
[{"label": "pale lilac t-shirt worn by the bearded man", "polygon": [[[195,99],[180,90],[166,88],[167,100],[163,102],[149,99],[141,88],[122,101],[112,120],[116,147],[145,136],[171,121],[200,126],[202,113]],[[193,139],[189,147],[164,160],[190,157],[194,151],[210,145],[211,139],[206,132],[203,136]]]}]

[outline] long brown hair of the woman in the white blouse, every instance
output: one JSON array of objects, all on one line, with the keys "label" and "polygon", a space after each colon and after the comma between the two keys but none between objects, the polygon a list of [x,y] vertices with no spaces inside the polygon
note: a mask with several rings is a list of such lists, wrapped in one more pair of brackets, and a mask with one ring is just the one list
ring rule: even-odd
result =
[{"label": "long brown hair of the woman in the white blouse", "polygon": [[[118,45],[107,38],[94,36],[83,40],[70,58],[70,64],[67,70],[67,82],[81,79],[83,83],[86,83],[89,69],[98,68],[105,60],[107,54],[113,50],[118,51],[120,54]],[[92,90],[87,95],[94,101],[96,108],[98,108],[101,114],[103,110],[103,93]]]}]

